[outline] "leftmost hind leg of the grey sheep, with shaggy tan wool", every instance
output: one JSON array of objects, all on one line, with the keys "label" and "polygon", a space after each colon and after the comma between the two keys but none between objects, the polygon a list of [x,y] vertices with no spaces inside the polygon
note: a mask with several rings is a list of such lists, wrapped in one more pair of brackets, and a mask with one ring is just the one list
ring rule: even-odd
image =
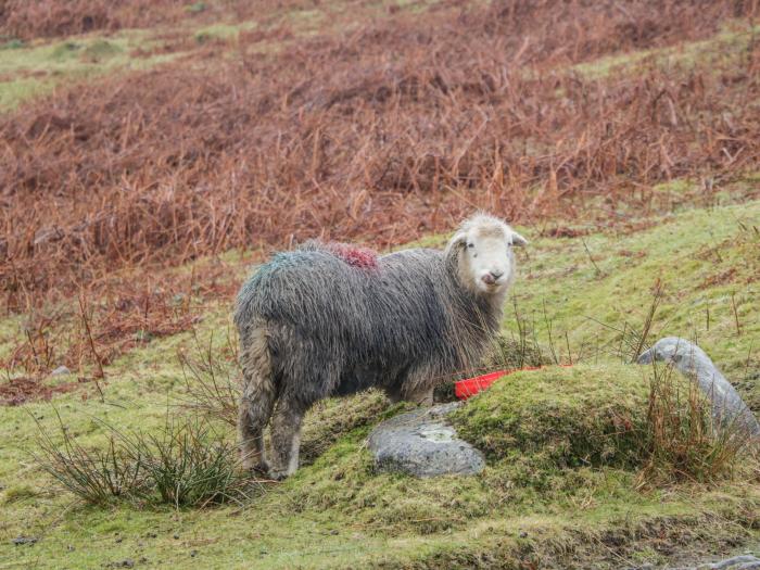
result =
[{"label": "leftmost hind leg of the grey sheep, with shaggy tan wool", "polygon": [[238,433],[243,467],[266,473],[264,428],[275,406],[276,388],[264,330],[256,330],[241,351],[243,393],[238,414]]}]

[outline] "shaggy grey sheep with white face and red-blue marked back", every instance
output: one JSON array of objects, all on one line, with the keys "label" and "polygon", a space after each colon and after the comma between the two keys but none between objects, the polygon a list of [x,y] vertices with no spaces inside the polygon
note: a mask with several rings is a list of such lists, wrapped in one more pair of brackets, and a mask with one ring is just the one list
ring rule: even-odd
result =
[{"label": "shaggy grey sheep with white face and red-blue marked back", "polygon": [[[318,400],[377,387],[393,401],[432,403],[438,383],[479,363],[515,279],[512,245],[527,243],[480,214],[445,251],[378,256],[312,241],[262,265],[235,309],[244,466],[293,473],[303,416]],[[270,416],[271,466],[263,442]]]}]

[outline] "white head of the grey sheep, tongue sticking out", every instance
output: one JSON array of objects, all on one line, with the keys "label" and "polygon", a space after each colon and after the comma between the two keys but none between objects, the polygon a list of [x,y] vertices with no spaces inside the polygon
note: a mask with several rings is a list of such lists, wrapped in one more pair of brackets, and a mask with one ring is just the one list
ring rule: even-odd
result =
[{"label": "white head of the grey sheep, tongue sticking out", "polygon": [[459,274],[461,280],[476,293],[504,293],[514,280],[515,253],[512,248],[525,245],[527,240],[509,226],[494,218],[476,218],[452,240],[460,248]]}]

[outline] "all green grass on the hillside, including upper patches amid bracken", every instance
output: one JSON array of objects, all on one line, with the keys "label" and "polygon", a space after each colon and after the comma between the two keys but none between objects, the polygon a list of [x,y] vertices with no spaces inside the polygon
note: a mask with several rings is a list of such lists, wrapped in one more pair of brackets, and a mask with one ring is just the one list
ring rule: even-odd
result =
[{"label": "all green grass on the hillside, including upper patches amid bracken", "polygon": [[[306,11],[283,20],[307,30],[319,18]],[[205,33],[226,39],[235,29],[220,24]],[[203,30],[190,31],[198,33],[205,38]],[[141,34],[7,45],[0,49],[0,75],[13,80],[0,84],[0,109],[64,80],[163,61],[151,55],[132,62],[130,52],[148,46]],[[727,34],[733,33],[685,48],[603,59],[578,71],[612,73],[626,59],[654,58],[667,65],[671,58],[723,56],[721,49],[740,49],[746,39],[740,31],[735,38]],[[92,507],[61,491],[29,458],[38,425],[50,434],[63,425],[60,435],[69,448],[94,453],[101,464],[113,464],[117,455],[107,426],[157,434],[147,444],[169,449],[165,456],[172,459],[175,444],[161,439],[175,433],[165,431],[167,409],[181,427],[189,395],[205,390],[213,400],[219,387],[228,395],[235,390],[233,349],[219,332],[229,327],[230,307],[204,303],[194,333],[147,340],[105,366],[104,401],[85,384],[56,396],[55,408],[41,402],[0,407],[0,569],[126,561],[202,568],[620,568],[664,563],[679,548],[696,561],[759,543],[755,464],[715,477],[671,477],[698,459],[685,456],[684,442],[686,449],[695,448],[692,440],[707,442],[696,447],[702,456],[721,447],[709,446],[706,425],[668,416],[670,406],[658,408],[679,395],[686,406],[680,409],[694,410],[686,418],[699,417],[693,393],[674,394],[669,384],[657,383],[651,369],[625,364],[634,352],[632,331],[650,320],[649,342],[666,334],[696,340],[760,409],[758,182],[757,175],[748,175],[704,192],[700,181],[676,180],[643,197],[646,212],[621,210],[610,214],[612,220],[584,216],[560,228],[552,223],[520,228],[531,246],[521,254],[514,304],[503,322],[505,341],[492,365],[546,363],[547,354],[537,347],[553,354],[552,362],[581,364],[512,375],[457,415],[461,433],[487,452],[478,477],[420,481],[376,472],[366,435],[406,407],[369,392],[315,406],[304,428],[304,467],[243,507],[177,509],[173,484],[164,485],[163,507],[110,499]],[[603,203],[594,208],[607,212]],[[577,237],[549,237],[553,229]],[[423,243],[440,245],[443,239],[431,236]],[[662,294],[650,315],[657,282]],[[0,320],[0,332],[8,332],[0,334],[0,356],[10,352],[14,342],[5,339],[17,335],[21,326],[18,317]],[[646,344],[647,338],[633,345]],[[514,346],[517,362],[510,359]],[[178,353],[185,354],[185,366]],[[659,390],[654,403],[650,385]],[[212,414],[231,411],[233,419],[233,400]],[[654,422],[653,414],[663,422]],[[223,431],[231,441],[231,426]],[[116,478],[119,473],[129,471]],[[18,536],[37,542],[15,546]]]}]

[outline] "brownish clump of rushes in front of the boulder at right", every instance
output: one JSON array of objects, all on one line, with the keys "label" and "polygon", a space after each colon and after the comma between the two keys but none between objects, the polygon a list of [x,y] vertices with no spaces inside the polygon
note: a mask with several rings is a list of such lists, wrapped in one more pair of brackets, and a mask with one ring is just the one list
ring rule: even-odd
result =
[{"label": "brownish clump of rushes in front of the boulder at right", "polygon": [[639,486],[713,483],[742,465],[757,465],[746,431],[718,425],[710,401],[672,365],[653,366],[646,427]]}]

